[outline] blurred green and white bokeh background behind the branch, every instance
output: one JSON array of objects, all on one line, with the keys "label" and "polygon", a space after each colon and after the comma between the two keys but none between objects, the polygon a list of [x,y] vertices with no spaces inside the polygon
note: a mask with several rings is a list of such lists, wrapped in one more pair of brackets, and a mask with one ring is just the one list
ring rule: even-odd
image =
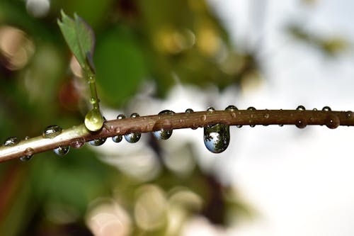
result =
[{"label": "blurred green and white bokeh background behind the branch", "polygon": [[[86,84],[57,26],[96,33],[105,118],[208,106],[353,106],[349,0],[0,1],[1,139],[82,123]],[[202,129],[0,164],[0,235],[353,235],[351,128]]]}]

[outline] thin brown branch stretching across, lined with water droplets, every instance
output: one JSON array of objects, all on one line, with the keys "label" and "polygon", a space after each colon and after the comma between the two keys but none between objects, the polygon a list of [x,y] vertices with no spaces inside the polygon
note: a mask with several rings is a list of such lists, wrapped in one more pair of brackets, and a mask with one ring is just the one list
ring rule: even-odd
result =
[{"label": "thin brown branch stretching across, lined with water droplets", "polygon": [[0,147],[0,162],[16,159],[24,155],[53,150],[59,146],[80,147],[84,142],[98,137],[113,137],[127,133],[148,133],[156,130],[176,130],[182,128],[202,128],[205,125],[224,123],[227,125],[354,125],[352,111],[303,111],[303,110],[234,110],[200,111],[175,113],[171,115],[140,116],[105,121],[103,128],[90,133],[84,125],[74,126],[52,138],[42,136],[22,140],[13,146]]}]

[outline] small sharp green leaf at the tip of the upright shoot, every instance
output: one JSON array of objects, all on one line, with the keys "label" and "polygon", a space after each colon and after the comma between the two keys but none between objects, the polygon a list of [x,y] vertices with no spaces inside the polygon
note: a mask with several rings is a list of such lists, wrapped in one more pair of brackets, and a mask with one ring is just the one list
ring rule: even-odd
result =
[{"label": "small sharp green leaf at the tip of the upright shoot", "polygon": [[95,47],[95,35],[91,27],[79,16],[74,14],[74,19],[67,16],[64,11],[62,21],[57,21],[65,41],[83,69],[95,72],[92,63]]}]

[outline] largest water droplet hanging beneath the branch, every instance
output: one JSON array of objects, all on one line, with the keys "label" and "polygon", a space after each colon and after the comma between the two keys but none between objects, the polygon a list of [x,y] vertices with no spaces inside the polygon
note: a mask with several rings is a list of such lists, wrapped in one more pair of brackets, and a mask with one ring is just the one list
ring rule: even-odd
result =
[{"label": "largest water droplet hanging beneath the branch", "polygon": [[207,125],[204,128],[204,144],[213,153],[224,152],[230,142],[229,125]]}]

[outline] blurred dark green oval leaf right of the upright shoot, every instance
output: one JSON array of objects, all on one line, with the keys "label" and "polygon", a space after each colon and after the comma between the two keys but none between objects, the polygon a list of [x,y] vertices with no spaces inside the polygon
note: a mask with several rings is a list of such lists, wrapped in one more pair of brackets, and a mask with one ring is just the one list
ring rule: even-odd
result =
[{"label": "blurred dark green oval leaf right of the upright shoot", "polygon": [[127,101],[147,74],[142,49],[127,28],[114,28],[101,35],[94,62],[99,94],[110,106]]}]

